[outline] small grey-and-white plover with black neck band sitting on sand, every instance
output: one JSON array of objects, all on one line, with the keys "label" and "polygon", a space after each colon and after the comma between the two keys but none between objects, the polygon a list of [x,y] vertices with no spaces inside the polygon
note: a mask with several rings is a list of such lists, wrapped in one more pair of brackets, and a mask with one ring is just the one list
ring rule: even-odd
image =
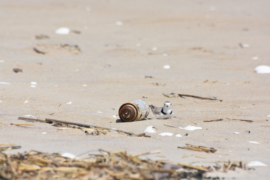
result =
[{"label": "small grey-and-white plover with black neck band sitting on sand", "polygon": [[157,119],[171,119],[174,115],[170,101],[165,101],[163,107],[150,106],[152,114]]}]

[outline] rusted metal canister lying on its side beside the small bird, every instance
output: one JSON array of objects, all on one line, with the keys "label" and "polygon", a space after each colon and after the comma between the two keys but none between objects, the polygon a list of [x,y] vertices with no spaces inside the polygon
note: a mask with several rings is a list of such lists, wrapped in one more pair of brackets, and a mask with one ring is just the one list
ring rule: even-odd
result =
[{"label": "rusted metal canister lying on its side beside the small bird", "polygon": [[143,100],[136,100],[122,104],[118,115],[121,120],[126,122],[140,121],[148,116],[150,108]]}]

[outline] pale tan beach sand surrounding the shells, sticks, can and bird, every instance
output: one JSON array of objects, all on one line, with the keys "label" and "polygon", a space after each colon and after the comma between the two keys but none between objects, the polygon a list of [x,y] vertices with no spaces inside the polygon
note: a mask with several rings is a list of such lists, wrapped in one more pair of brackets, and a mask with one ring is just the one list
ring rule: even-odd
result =
[{"label": "pale tan beach sand surrounding the shells, sticks, can and bird", "polygon": [[[25,128],[1,124],[1,143],[22,146],[9,153],[35,149],[79,155],[102,148],[130,154],[161,150],[160,155],[166,157],[163,159],[183,163],[256,160],[268,167],[223,175],[268,179],[270,128],[263,125],[270,125],[270,75],[254,73],[254,68],[270,65],[269,6],[267,0],[2,1],[0,60],[4,62],[0,63],[0,81],[10,85],[0,84],[1,122],[27,123],[17,118],[30,114],[137,134],[150,125],[158,130],[148,133],[152,138],[126,137],[115,132],[87,136],[76,130],[57,131],[57,127],[43,123]],[[116,21],[123,25],[116,25]],[[79,30],[81,34],[55,34],[60,27]],[[46,34],[50,39],[36,40],[37,34]],[[60,48],[60,43],[76,44],[82,52],[75,54]],[[249,47],[241,48],[239,43]],[[47,53],[38,54],[33,47]],[[157,50],[152,51],[152,47]],[[252,59],[254,56],[258,60]],[[171,68],[163,69],[166,64]],[[14,73],[13,68],[23,72]],[[154,78],[146,79],[146,75]],[[204,83],[205,80],[209,82]],[[35,88],[30,87],[31,81],[37,82]],[[169,99],[162,95],[171,92],[214,96],[223,101]],[[170,100],[180,119],[157,120],[149,115],[147,120],[118,123],[113,117],[118,108],[143,96],[154,106]],[[26,100],[29,102],[24,104]],[[70,101],[72,104],[66,104]],[[219,118],[224,120],[203,122]],[[187,131],[163,124],[203,129]],[[162,132],[183,137],[158,135]],[[186,133],[188,136],[184,136]],[[177,148],[186,143],[213,147],[217,152]],[[193,156],[182,158],[185,155]],[[146,157],[160,159],[156,155]]]}]

